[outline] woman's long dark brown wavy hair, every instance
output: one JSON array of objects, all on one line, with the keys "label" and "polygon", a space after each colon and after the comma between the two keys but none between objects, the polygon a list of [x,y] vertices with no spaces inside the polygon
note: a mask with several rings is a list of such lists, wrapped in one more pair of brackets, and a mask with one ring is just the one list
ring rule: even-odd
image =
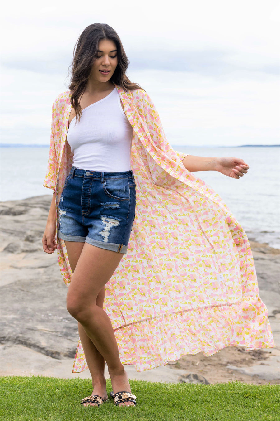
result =
[{"label": "woman's long dark brown wavy hair", "polygon": [[97,56],[98,44],[101,40],[112,40],[117,45],[118,65],[110,80],[116,85],[120,85],[126,92],[133,91],[134,89],[143,89],[137,83],[131,82],[126,75],[129,60],[115,29],[107,24],[91,24],[79,36],[73,51],[73,61],[69,66],[72,73],[69,85],[71,104],[76,113],[76,120],[78,119],[78,121],[80,121],[82,112],[78,100],[85,91],[92,65]]}]

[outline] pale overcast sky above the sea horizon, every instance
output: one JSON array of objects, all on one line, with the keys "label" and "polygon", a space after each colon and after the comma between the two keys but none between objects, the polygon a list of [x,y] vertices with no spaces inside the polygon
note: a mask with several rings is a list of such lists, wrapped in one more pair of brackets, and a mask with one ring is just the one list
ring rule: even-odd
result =
[{"label": "pale overcast sky above the sea horizon", "polygon": [[279,1],[5,2],[1,15],[2,143],[49,144],[52,103],[95,22],[118,32],[171,144],[280,143]]}]

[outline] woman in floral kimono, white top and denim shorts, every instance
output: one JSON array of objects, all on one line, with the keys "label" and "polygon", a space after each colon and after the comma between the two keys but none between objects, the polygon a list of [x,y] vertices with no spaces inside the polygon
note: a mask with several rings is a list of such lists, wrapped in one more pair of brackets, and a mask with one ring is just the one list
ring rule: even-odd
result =
[{"label": "woman in floral kimono, white top and denim shorts", "polygon": [[248,238],[192,173],[239,179],[249,165],[174,151],[127,67],[114,29],[89,25],[52,107],[44,186],[55,194],[42,243],[58,250],[78,321],[72,372],[92,375],[84,406],[108,399],[105,361],[115,405],[135,406],[123,364],[141,371],[187,353],[274,346]]}]

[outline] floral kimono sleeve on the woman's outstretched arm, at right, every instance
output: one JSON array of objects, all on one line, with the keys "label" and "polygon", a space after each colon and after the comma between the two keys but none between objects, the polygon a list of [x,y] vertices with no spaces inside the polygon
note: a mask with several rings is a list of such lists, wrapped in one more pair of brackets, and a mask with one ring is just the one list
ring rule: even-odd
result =
[{"label": "floral kimono sleeve on the woman's outstretched arm, at right", "polygon": [[163,131],[162,123],[160,121],[159,113],[149,95],[143,91],[143,109],[145,120],[147,123],[147,127],[149,129],[149,133],[151,134],[152,140],[154,144],[165,152],[169,156],[177,155],[181,161],[183,161],[184,157],[189,154],[185,152],[178,152],[173,149],[170,143],[167,141],[165,133]]}]

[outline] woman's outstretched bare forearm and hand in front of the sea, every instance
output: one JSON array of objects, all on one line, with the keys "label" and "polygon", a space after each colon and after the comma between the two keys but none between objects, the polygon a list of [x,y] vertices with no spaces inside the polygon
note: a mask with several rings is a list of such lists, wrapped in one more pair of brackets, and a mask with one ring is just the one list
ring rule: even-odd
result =
[{"label": "woman's outstretched bare forearm and hand in front of the sea", "polygon": [[187,155],[183,160],[183,165],[191,173],[194,171],[218,171],[225,176],[239,179],[246,174],[249,165],[242,159],[235,157],[197,157]]}]

